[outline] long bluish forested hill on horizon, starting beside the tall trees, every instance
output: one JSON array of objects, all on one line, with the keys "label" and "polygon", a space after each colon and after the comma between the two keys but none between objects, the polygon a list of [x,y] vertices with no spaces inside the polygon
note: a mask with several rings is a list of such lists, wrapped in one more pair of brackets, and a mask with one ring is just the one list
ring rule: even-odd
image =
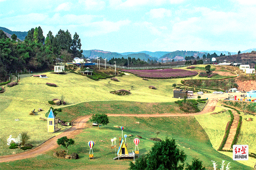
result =
[{"label": "long bluish forested hill on horizon, starting beside the tall trees", "polygon": [[109,52],[109,51],[102,51],[102,50],[83,50],[82,53],[86,58],[96,58],[101,57],[101,58],[106,58],[107,60],[110,60],[111,58],[135,58],[135,59],[140,59],[140,60],[145,60],[147,61],[148,59],[150,60],[158,60],[157,57],[152,57],[148,54],[145,53],[133,53],[133,54],[128,54],[128,55],[122,55],[117,52]]}]

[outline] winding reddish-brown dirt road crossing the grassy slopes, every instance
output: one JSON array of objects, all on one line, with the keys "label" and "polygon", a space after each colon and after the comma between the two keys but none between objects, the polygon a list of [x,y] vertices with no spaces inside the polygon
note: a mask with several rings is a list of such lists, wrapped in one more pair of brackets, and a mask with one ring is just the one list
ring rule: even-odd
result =
[{"label": "winding reddish-brown dirt road crossing the grassy slopes", "polygon": [[[213,112],[217,105],[218,99],[209,100],[205,105],[204,109],[201,112],[193,113],[193,114],[107,114],[107,116],[129,116],[129,117],[184,117],[184,116],[195,116],[195,115],[203,115],[209,112]],[[57,144],[57,139],[67,136],[67,138],[73,138],[74,136],[81,133],[84,129],[90,128],[91,123],[89,123],[90,115],[78,117],[73,121],[73,126],[67,129],[65,132],[55,136],[41,145],[35,147],[33,150],[14,154],[1,156],[0,162],[10,162],[22,159],[28,159],[36,157],[37,155],[43,154],[47,151],[51,151],[56,149],[59,145]]]}]

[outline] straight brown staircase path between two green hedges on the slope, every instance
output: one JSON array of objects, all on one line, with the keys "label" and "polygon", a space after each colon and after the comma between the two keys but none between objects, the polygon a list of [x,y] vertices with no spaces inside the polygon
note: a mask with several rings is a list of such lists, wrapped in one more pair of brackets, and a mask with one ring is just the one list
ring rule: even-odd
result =
[{"label": "straight brown staircase path between two green hedges on the slope", "polygon": [[225,143],[224,147],[222,148],[223,150],[231,150],[231,144],[234,140],[234,136],[235,136],[236,129],[238,126],[239,114],[235,110],[231,110],[231,112],[234,115],[234,120],[231,124],[226,143]]}]

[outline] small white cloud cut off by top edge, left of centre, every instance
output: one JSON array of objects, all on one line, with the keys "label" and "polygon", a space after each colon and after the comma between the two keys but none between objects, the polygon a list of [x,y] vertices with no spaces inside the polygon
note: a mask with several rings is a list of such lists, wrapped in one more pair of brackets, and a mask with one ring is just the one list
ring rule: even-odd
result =
[{"label": "small white cloud cut off by top edge, left of centre", "polygon": [[79,0],[78,3],[83,4],[87,10],[102,10],[106,6],[102,0]]}]

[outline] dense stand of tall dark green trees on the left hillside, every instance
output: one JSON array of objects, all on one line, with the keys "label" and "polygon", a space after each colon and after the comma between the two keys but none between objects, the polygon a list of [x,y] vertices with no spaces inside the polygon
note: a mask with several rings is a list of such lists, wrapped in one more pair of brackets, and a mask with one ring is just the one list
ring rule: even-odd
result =
[{"label": "dense stand of tall dark green trees on the left hillside", "polygon": [[46,38],[41,27],[28,31],[24,41],[18,41],[15,34],[12,40],[0,30],[0,81],[6,81],[10,73],[28,72],[29,70],[52,70],[55,58],[64,61],[81,57],[81,40],[77,33],[73,39],[67,31],[60,30],[54,37],[49,31]]}]

